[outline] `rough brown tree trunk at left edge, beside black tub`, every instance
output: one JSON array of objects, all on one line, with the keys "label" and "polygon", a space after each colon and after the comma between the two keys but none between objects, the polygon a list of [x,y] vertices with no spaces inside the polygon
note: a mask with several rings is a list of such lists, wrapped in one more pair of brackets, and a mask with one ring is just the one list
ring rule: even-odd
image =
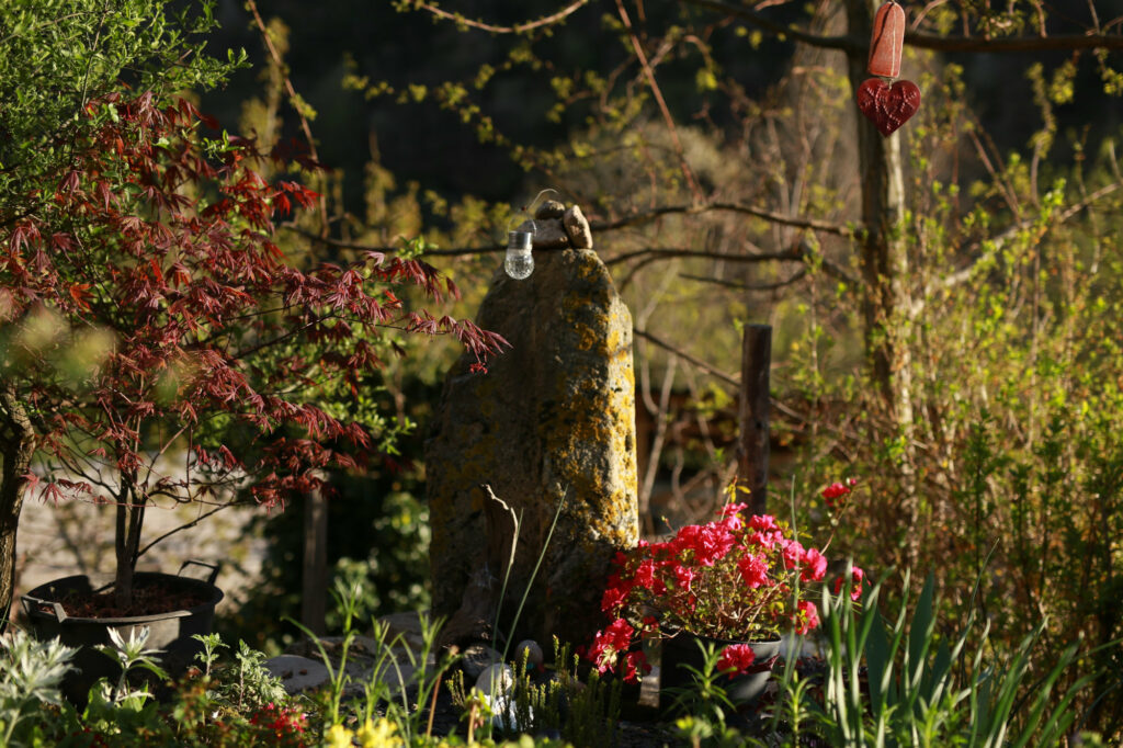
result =
[{"label": "rough brown tree trunk at left edge, beside black tub", "polygon": [[16,532],[24,507],[27,475],[35,454],[35,431],[15,389],[0,386],[0,632],[8,626],[16,593]]}]

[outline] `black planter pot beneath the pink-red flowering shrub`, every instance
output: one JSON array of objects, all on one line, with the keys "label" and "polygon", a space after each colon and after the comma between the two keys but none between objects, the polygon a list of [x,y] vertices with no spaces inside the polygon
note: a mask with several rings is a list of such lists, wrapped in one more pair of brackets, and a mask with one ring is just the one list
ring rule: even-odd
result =
[{"label": "black planter pot beneath the pink-red flowering shrub", "polygon": [[676,636],[663,640],[663,662],[659,674],[660,701],[669,703],[667,688],[682,688],[694,683],[694,674],[686,668],[693,667],[702,671],[705,658],[699,644],[713,645],[715,651],[733,644],[748,644],[755,655],[752,665],[742,675],[716,678],[718,685],[725,690],[730,701],[738,705],[748,705],[755,702],[764,693],[772,677],[773,665],[779,657],[780,640],[768,639],[764,641],[730,641],[728,639],[713,639],[711,637],[699,636],[679,631]]}]

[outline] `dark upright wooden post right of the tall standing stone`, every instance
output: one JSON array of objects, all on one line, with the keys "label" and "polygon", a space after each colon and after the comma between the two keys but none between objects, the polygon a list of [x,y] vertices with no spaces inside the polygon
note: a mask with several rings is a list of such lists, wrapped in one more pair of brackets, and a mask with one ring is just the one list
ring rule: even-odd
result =
[{"label": "dark upright wooden post right of the tall standing stone", "polygon": [[766,513],[768,495],[768,410],[772,326],[746,325],[741,349],[741,403],[737,475],[749,489],[749,509]]}]

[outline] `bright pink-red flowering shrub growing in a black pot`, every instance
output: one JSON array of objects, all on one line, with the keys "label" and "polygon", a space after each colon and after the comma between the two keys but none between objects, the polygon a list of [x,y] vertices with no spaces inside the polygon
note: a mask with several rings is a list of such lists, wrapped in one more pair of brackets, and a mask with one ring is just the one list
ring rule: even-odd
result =
[{"label": "bright pink-red flowering shrub growing in a black pot", "polygon": [[[823,499],[839,511],[855,483],[834,483]],[[806,584],[823,581],[827,557],[819,548],[804,548],[772,516],[746,518],[746,508],[727,504],[715,521],[687,524],[669,540],[640,540],[617,554],[601,602],[611,623],[597,631],[586,653],[600,672],[615,672],[621,655],[626,681],[648,669],[642,653],[630,651],[643,633],[686,631],[749,641],[788,629],[807,633],[819,626],[819,610],[802,598]],[[862,578],[855,568],[856,600]],[[836,580],[836,590],[842,583]],[[751,664],[751,649],[733,645],[722,653],[720,668],[743,672]]]}]

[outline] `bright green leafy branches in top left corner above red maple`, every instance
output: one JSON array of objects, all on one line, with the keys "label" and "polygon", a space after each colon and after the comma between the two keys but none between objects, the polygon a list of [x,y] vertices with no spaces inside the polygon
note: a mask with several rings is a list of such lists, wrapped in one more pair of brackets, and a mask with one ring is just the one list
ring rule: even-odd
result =
[{"label": "bright green leafy branches in top left corner above red maple", "polygon": [[[86,104],[125,85],[163,99],[213,86],[245,64],[203,53],[213,2],[11,0],[0,11],[0,224],[49,198],[72,144],[112,118]],[[34,192],[36,186],[43,191]]]}]

